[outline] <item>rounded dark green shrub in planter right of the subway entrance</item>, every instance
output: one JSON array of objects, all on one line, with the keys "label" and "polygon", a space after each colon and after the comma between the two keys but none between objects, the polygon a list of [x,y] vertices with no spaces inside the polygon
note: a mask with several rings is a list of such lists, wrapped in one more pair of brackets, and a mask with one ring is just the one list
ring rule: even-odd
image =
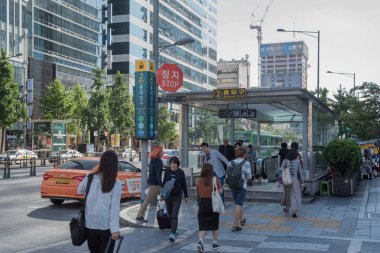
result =
[{"label": "rounded dark green shrub in planter right of the subway entrance", "polygon": [[351,140],[333,140],[327,145],[323,155],[330,164],[333,176],[351,176],[359,169],[361,161],[360,148]]}]

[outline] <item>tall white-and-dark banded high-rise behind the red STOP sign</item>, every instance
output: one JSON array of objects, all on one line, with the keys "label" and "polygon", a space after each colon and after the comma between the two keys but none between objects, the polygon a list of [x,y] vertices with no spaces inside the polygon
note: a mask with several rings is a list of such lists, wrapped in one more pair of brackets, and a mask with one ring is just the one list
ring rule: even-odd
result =
[{"label": "tall white-and-dark banded high-rise behind the red STOP sign", "polygon": [[[177,64],[184,74],[183,89],[214,89],[217,84],[217,1],[159,2],[160,46],[173,44],[183,38],[195,40],[191,44],[162,50],[159,65]],[[120,71],[134,75],[136,59],[153,59],[153,1],[109,0],[108,8],[112,8],[107,29],[112,34],[107,52],[108,73]]]}]

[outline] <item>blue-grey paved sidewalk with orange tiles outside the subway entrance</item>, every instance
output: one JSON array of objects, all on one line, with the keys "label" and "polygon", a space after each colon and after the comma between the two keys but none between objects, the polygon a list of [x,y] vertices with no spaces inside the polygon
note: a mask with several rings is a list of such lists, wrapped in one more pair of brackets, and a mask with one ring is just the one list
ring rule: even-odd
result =
[{"label": "blue-grey paved sidewalk with orange tiles outside the subway entrance", "polygon": [[[242,231],[232,232],[234,205],[227,203],[220,217],[220,249],[217,252],[379,252],[380,249],[380,178],[362,180],[351,198],[322,197],[303,205],[298,218],[292,218],[276,203],[247,203]],[[120,212],[125,240],[120,252],[196,251],[198,222],[196,202],[182,203],[179,236],[168,241],[169,231],[159,230],[156,206],[147,212],[147,223],[136,222],[139,204]],[[210,252],[210,235],[206,252]],[[86,245],[74,247],[69,240],[26,252],[87,252]]]}]

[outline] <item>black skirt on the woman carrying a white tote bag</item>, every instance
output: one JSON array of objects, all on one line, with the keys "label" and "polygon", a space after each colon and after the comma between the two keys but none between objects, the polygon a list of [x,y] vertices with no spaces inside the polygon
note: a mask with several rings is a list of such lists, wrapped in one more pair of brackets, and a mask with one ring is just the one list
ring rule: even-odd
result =
[{"label": "black skirt on the woman carrying a white tote bag", "polygon": [[199,231],[214,231],[219,229],[219,213],[212,210],[212,201],[201,198],[198,210]]}]

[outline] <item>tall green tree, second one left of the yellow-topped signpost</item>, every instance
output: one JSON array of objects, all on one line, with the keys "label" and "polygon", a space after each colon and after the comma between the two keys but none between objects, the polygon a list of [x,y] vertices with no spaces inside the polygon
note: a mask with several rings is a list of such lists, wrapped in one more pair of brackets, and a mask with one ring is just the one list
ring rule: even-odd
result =
[{"label": "tall green tree, second one left of the yellow-topped signpost", "polygon": [[84,111],[84,120],[94,143],[94,131],[108,130],[110,126],[109,92],[105,87],[105,72],[94,69],[94,84],[91,86],[91,97]]}]

